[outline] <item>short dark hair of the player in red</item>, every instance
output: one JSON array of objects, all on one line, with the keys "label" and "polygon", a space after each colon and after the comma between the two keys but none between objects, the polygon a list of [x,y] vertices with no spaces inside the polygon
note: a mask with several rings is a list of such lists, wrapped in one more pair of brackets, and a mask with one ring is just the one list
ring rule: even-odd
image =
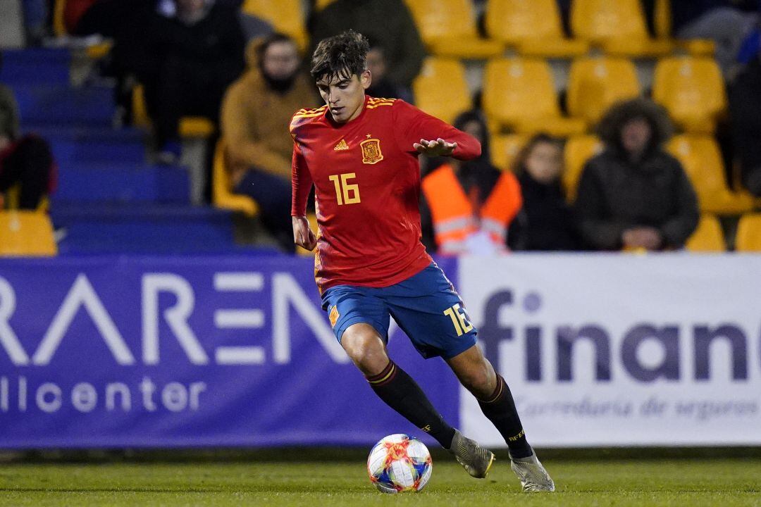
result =
[{"label": "short dark hair of the player in red", "polygon": [[312,55],[310,74],[315,81],[322,78],[350,78],[368,68],[367,55],[370,43],[354,30],[320,40]]}]

